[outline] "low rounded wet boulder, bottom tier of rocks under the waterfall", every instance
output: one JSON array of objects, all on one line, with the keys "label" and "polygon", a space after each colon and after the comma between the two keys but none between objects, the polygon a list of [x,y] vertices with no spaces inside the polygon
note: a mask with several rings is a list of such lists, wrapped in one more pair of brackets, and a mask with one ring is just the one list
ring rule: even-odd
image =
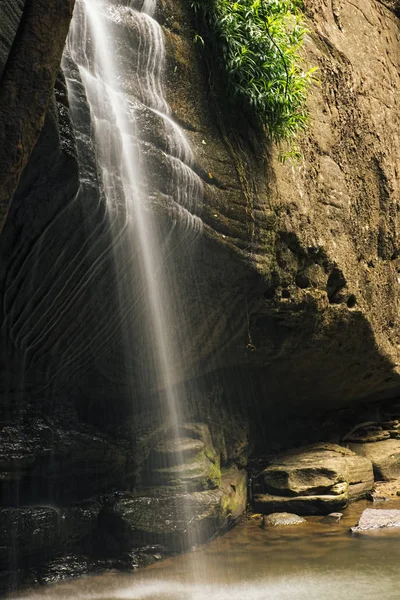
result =
[{"label": "low rounded wet boulder, bottom tier of rocks under the waterfall", "polygon": [[227,529],[246,509],[244,470],[232,467],[218,489],[183,492],[150,488],[145,493],[123,493],[99,516],[100,529],[110,548],[129,551],[142,544],[184,550]]}]

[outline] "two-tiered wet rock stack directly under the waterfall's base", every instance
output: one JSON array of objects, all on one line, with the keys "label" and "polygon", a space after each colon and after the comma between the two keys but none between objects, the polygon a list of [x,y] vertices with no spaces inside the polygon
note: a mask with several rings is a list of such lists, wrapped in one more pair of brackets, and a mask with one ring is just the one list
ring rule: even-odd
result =
[{"label": "two-tiered wet rock stack directly under the waterfall's base", "polygon": [[246,471],[220,468],[208,426],[186,424],[178,433],[182,437],[167,435],[150,452],[148,487],[122,493],[102,509],[108,548],[185,550],[226,530],[245,511]]}]

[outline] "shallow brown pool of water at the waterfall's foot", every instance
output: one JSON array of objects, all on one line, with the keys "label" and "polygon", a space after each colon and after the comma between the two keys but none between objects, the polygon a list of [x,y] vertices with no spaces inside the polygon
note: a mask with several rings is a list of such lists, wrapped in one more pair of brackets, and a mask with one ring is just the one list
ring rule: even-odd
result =
[{"label": "shallow brown pool of water at the waterfall's foot", "polygon": [[[309,517],[262,530],[248,520],[195,552],[132,574],[107,572],[40,588],[24,600],[332,600],[400,598],[400,529],[354,536],[359,502],[339,523]],[[385,502],[374,508],[398,508]]]}]

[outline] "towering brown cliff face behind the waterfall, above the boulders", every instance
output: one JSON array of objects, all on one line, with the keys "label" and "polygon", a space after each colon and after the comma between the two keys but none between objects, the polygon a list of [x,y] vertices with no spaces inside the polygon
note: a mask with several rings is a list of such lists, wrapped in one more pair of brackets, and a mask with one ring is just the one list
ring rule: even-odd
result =
[{"label": "towering brown cliff face behind the waterfall, above the boulders", "polygon": [[[2,22],[4,61],[22,9],[13,5]],[[210,105],[189,8],[165,0],[157,15],[165,90],[205,189],[193,272],[182,272],[182,312],[190,316],[184,354],[202,389],[198,379],[191,385],[200,402],[220,394],[232,406],[245,397],[261,415],[253,432],[271,445],[287,445],[285,435],[303,441],[316,414],[398,386],[398,20],[375,0],[362,11],[309,0],[305,10],[306,62],[319,66],[321,85],[310,96],[302,162],[293,167],[281,165],[250,125],[241,129],[234,112]],[[122,17],[119,32],[129,25]],[[89,422],[118,426],[131,411],[127,381],[137,381],[127,373],[129,323],[121,324],[113,293],[124,269],[116,273],[110,256],[84,92],[68,59],[64,68],[78,99],[75,136],[60,78],[0,240],[1,383],[4,394],[22,380],[37,394],[51,382]],[[165,140],[156,120],[142,117],[159,156]],[[153,182],[162,187],[168,178],[156,163]],[[148,402],[142,396],[137,404]]]}]

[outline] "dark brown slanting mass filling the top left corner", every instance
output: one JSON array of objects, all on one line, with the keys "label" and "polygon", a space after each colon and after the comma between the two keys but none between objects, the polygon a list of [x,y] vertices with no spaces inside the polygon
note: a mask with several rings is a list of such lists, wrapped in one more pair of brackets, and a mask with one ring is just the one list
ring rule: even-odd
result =
[{"label": "dark brown slanting mass filling the top left corner", "polygon": [[[7,0],[0,45],[0,230],[42,130],[75,0]],[[3,11],[2,11],[3,12]]]}]

